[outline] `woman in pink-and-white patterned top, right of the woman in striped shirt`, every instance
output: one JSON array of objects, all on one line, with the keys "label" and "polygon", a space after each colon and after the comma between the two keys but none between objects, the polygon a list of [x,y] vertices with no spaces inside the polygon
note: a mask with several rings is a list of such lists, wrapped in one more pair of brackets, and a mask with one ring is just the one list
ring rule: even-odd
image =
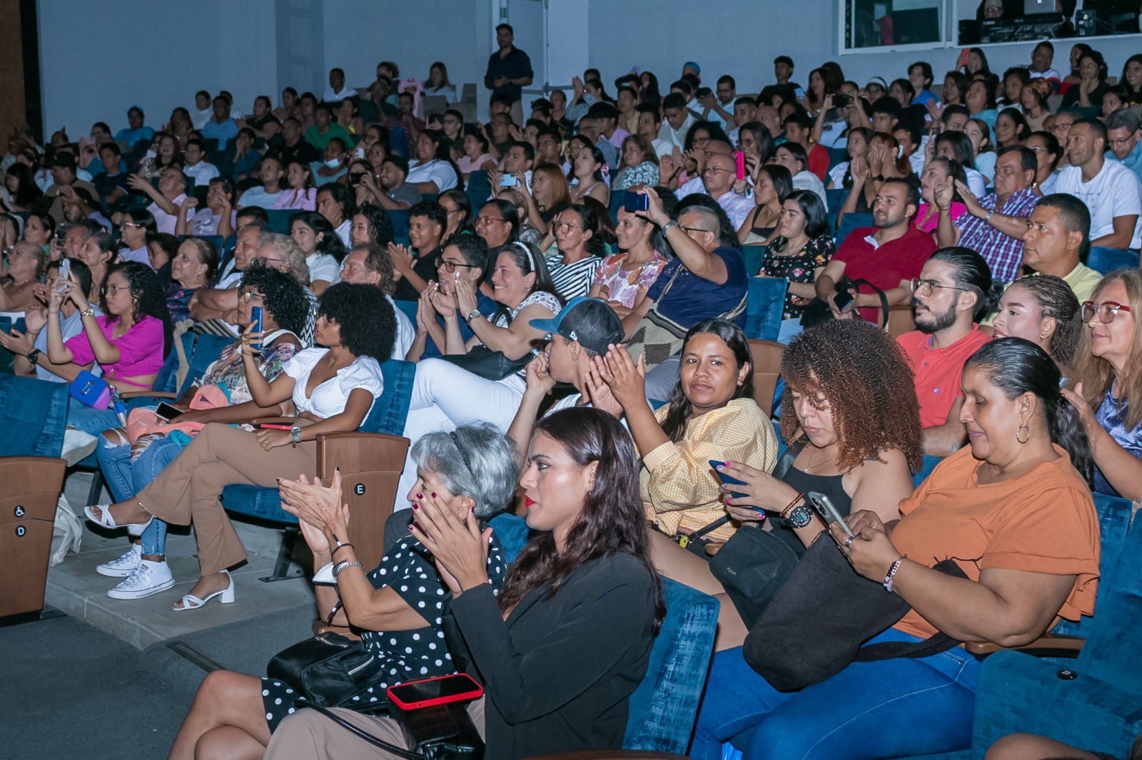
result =
[{"label": "woman in pink-and-white patterned top, right of the woman in striped shirt", "polygon": [[625,317],[638,308],[646,291],[666,266],[669,246],[646,217],[619,209],[614,234],[619,250],[604,258],[592,277],[592,298],[598,298]]}]

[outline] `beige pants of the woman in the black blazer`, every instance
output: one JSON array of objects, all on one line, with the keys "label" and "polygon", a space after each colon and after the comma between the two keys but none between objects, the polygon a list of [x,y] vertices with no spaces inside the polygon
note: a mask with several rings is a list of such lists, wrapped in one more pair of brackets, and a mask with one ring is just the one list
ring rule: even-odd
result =
[{"label": "beige pants of the woman in the black blazer", "polygon": [[[381,742],[408,747],[401,726],[392,718],[362,715],[345,708],[333,708],[347,722],[376,736]],[[472,723],[484,738],[484,700],[468,705]],[[349,734],[345,728],[315,710],[298,710],[286,718],[274,735],[270,737],[265,760],[344,760],[345,758],[393,758],[403,760],[392,752],[370,744]]]}]

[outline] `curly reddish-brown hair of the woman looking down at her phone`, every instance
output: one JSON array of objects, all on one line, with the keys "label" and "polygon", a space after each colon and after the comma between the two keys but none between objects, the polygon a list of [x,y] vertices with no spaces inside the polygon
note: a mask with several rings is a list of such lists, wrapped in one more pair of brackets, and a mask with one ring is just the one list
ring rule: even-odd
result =
[{"label": "curly reddish-brown hair of the woman looking down at her phone", "polygon": [[[839,439],[837,467],[879,460],[885,448],[899,448],[908,467],[923,464],[920,410],[912,370],[896,341],[863,320],[836,320],[790,341],[781,359],[781,437],[802,435],[794,391],[810,403],[829,404]],[[823,402],[817,395],[825,396]]]}]

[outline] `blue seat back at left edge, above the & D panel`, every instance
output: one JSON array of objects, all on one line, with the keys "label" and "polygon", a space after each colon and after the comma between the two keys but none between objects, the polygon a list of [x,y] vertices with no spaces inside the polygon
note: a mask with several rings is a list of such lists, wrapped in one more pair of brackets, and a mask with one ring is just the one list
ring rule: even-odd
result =
[{"label": "blue seat back at left edge, above the & D panel", "polygon": [[66,382],[0,374],[0,456],[59,456],[69,398]]}]

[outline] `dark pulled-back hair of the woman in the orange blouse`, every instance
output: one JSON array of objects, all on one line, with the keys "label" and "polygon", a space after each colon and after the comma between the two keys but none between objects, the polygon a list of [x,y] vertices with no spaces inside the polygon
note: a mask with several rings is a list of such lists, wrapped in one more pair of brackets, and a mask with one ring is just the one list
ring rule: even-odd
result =
[{"label": "dark pulled-back hair of the woman in the orange blouse", "polygon": [[1091,440],[1078,410],[1062,395],[1059,365],[1047,353],[1023,338],[999,338],[983,343],[964,364],[976,366],[988,375],[988,382],[1007,398],[1032,393],[1043,402],[1051,442],[1070,454],[1071,464],[1091,483],[1094,461]]}]

